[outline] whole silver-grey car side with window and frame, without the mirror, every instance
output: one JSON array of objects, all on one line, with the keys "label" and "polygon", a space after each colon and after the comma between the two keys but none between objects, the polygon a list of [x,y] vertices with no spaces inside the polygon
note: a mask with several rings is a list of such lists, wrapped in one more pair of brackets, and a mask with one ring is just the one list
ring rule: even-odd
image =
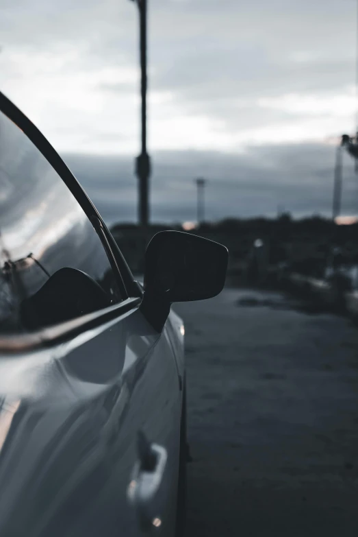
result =
[{"label": "whole silver-grey car side with window and frame, without the mirror", "polygon": [[1,94],[0,258],[0,534],[172,535],[181,385],[167,329]]}]

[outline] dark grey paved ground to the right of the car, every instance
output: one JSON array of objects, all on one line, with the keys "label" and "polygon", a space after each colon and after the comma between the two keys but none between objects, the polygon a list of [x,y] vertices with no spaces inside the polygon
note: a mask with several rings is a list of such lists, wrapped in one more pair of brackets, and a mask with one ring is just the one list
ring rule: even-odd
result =
[{"label": "dark grey paved ground to the right of the car", "polygon": [[187,537],[357,537],[358,329],[234,289],[175,309],[186,322]]}]

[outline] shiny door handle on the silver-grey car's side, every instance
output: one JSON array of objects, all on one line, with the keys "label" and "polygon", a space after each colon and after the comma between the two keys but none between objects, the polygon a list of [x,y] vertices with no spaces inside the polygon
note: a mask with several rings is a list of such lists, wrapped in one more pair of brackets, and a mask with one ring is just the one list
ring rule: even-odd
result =
[{"label": "shiny door handle on the silver-grey car's side", "polygon": [[162,523],[157,493],[162,485],[167,460],[166,449],[159,444],[150,444],[140,431],[138,461],[133,468],[127,497],[138,514],[142,529],[159,527]]}]

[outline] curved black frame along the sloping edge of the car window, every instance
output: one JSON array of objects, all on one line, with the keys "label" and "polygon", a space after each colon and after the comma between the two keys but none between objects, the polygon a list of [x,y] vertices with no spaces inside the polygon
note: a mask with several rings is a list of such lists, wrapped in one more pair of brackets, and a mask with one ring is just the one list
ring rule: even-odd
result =
[{"label": "curved black frame along the sloping edge of the car window", "polygon": [[[46,158],[47,162],[53,167],[58,174],[59,178],[66,184],[66,187],[75,197],[75,200],[81,206],[82,210],[90,220],[94,231],[97,232],[99,239],[101,240],[102,248],[104,248],[114,275],[116,276],[118,286],[123,294],[123,302],[128,298],[142,297],[142,289],[134,281],[133,274],[125,261],[125,258],[120,252],[116,241],[112,237],[107,226],[103,222],[103,219],[97,208],[94,206],[88,195],[81,187],[81,184],[77,181],[71,170],[64,163],[64,160],[53,148],[51,143],[45,138],[45,136],[38,130],[38,128],[32,123],[26,116],[19,110],[8,97],[5,97],[0,92],[0,112],[10,119],[15,125],[20,128],[25,136],[35,145],[37,150]],[[120,305],[121,302],[119,302]]]}]

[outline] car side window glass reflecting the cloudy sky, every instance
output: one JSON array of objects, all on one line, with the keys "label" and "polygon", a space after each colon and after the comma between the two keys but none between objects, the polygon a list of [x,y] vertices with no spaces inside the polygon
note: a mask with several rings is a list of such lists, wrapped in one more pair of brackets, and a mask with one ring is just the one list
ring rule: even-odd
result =
[{"label": "car side window glass reflecting the cloudy sky", "polygon": [[122,297],[83,209],[0,112],[0,333],[70,320]]}]

